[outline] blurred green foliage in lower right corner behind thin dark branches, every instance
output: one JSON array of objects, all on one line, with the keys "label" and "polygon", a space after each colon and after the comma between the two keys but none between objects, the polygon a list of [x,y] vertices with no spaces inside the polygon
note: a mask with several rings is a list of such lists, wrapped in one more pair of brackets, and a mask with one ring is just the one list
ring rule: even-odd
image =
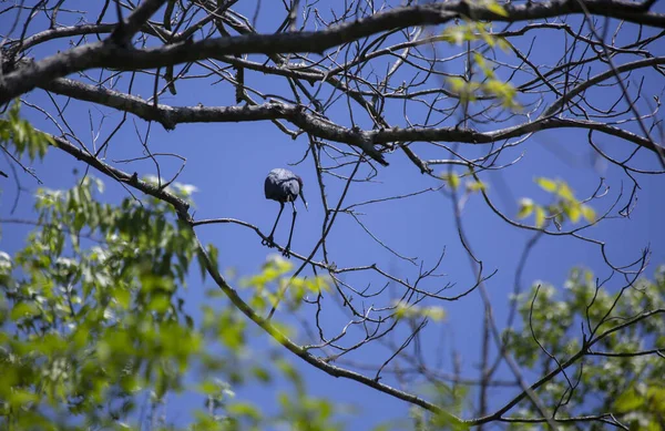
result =
[{"label": "blurred green foliage in lower right corner behind thin dark branches", "polygon": [[[662,356],[641,352],[665,346],[665,320],[643,319],[594,346],[585,342],[632,317],[665,308],[665,267],[653,281],[642,279],[618,293],[598,287],[591,271],[574,269],[563,291],[536,284],[515,300],[523,327],[504,337],[524,370],[550,372],[580,350],[585,352],[583,362],[538,391],[546,406],[561,404],[560,414],[570,415],[614,412],[631,430],[664,429],[665,362]],[[524,402],[521,413],[538,414],[531,410]]]}]

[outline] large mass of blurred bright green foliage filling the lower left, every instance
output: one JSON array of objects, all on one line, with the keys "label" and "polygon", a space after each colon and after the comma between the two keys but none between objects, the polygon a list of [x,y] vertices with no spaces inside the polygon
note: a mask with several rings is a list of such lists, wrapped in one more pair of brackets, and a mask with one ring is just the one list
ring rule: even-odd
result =
[{"label": "large mass of blurred bright green foliage filling the lower left", "polygon": [[[170,187],[191,197],[188,186]],[[40,189],[24,248],[0,253],[0,427],[175,429],[155,419],[158,407],[167,394],[194,393],[204,409],[188,429],[263,429],[285,420],[335,429],[332,406],[308,397],[283,360],[274,368],[294,381],[296,398],[279,394],[275,417],[234,399],[234,386],[268,384],[275,372],[252,360],[246,320],[227,302],[204,305],[197,324],[187,312],[191,228],[158,199],[111,205],[100,202],[102,192],[91,177],[69,191]],[[250,277],[257,291],[288,279],[288,270],[274,271],[276,263]],[[296,277],[294,295],[323,283]],[[208,296],[219,301],[218,290]],[[155,413],[142,420],[146,410]]]}]

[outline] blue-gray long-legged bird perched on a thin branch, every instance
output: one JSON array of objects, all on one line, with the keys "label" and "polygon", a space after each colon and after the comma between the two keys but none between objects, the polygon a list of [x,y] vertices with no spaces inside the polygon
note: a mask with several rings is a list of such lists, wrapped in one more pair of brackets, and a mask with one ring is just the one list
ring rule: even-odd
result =
[{"label": "blue-gray long-legged bird perched on a thin branch", "polygon": [[284,211],[284,204],[286,202],[290,202],[294,208],[294,218],[291,219],[291,228],[290,233],[288,234],[288,243],[286,243],[284,252],[282,252],[284,256],[289,257],[290,240],[291,236],[294,235],[296,215],[298,214],[295,204],[296,198],[298,196],[300,196],[300,198],[305,203],[305,208],[307,208],[307,201],[305,201],[305,195],[303,194],[303,178],[300,178],[298,175],[294,174],[288,170],[277,167],[270,171],[270,173],[266,177],[264,189],[266,192],[266,199],[273,199],[279,203],[279,213],[277,214],[277,219],[275,220],[273,230],[270,230],[270,235],[268,235],[268,237],[262,242],[263,245],[268,247],[275,247],[275,243],[273,242],[273,235],[275,234],[275,228],[277,227],[277,223],[279,223],[279,217],[282,216],[282,212]]}]

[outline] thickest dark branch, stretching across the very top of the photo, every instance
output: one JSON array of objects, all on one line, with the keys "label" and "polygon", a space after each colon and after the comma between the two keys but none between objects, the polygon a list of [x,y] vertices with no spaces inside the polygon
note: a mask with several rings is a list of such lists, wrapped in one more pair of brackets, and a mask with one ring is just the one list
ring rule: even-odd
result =
[{"label": "thickest dark branch, stretching across the very top of the photo", "polygon": [[[163,0],[145,1],[116,30],[120,38],[133,35],[140,25],[154,13]],[[587,0],[583,6],[593,14],[616,18],[645,25],[665,28],[665,14],[644,11],[640,4],[620,0]],[[31,91],[48,81],[89,69],[117,70],[156,69],[222,55],[250,53],[317,52],[352,42],[381,31],[416,25],[442,24],[458,17],[473,20],[518,22],[583,13],[574,1],[560,0],[545,3],[507,6],[507,17],[490,10],[472,7],[466,1],[412,6],[376,13],[354,22],[342,23],[320,31],[297,33],[245,34],[233,38],[187,41],[165,47],[136,50],[114,43],[91,43],[73,48],[16,70],[0,81],[0,104]],[[139,27],[137,27],[139,25]],[[112,39],[116,39],[113,35]]]}]

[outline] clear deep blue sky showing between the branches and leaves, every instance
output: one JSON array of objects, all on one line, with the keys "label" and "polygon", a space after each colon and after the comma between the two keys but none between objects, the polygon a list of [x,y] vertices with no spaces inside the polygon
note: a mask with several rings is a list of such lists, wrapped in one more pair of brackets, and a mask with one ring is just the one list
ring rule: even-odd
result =
[{"label": "clear deep blue sky showing between the branches and leaves", "polygon": [[[81,6],[83,7],[83,4],[82,2]],[[263,2],[258,16],[259,29],[262,25],[274,27],[274,22],[278,21],[280,14],[272,9],[276,8],[275,4],[276,2]],[[248,16],[253,14],[253,9],[242,2],[238,11]],[[7,17],[0,17],[0,27],[4,28],[6,20]],[[544,61],[549,52],[561,49],[560,40],[556,38],[551,41],[541,40],[539,43],[540,47],[544,47],[542,48],[544,51],[536,51],[533,54],[535,61]],[[548,51],[548,47],[551,51]],[[52,48],[53,45],[50,49]],[[446,49],[454,53],[460,48],[451,45]],[[653,51],[662,54],[663,48],[654,48]],[[40,51],[35,50],[34,54],[39,55]],[[659,88],[663,85],[662,80],[657,81],[653,75],[648,76],[647,82],[655,86],[659,85]],[[275,92],[285,89],[285,84],[280,80],[266,78],[258,73],[247,73],[247,84],[256,85],[266,92],[269,89],[274,89]],[[135,86],[135,94],[151,94],[151,85],[150,80],[140,79]],[[595,95],[601,100],[604,98],[602,93]],[[52,104],[43,91],[33,91],[25,100],[52,109]],[[175,105],[203,103],[206,106],[214,106],[232,105],[235,101],[228,85],[211,86],[209,82],[192,80],[178,84],[176,98],[164,96],[161,103]],[[345,104],[338,105],[332,111],[332,115],[338,122],[348,125],[348,115],[346,115],[344,106]],[[114,122],[122,117],[120,112],[103,106],[73,103],[68,110],[72,129],[91,146],[93,140],[90,133],[91,119],[95,130],[101,124],[101,135],[105,136],[113,129]],[[35,126],[53,132],[53,127],[49,125],[42,114],[27,106],[23,107],[22,113]],[[102,113],[104,121],[100,123]],[[388,116],[395,124],[405,125],[401,110],[393,107],[388,112]],[[367,119],[360,119],[359,124],[369,125]],[[142,135],[145,134],[146,124],[144,122],[137,120],[136,127]],[[492,129],[491,125],[484,127]],[[610,138],[604,138],[602,144],[616,155],[627,154],[633,150],[631,144]],[[264,178],[272,168],[289,167],[290,164],[301,160],[307,150],[306,136],[301,135],[295,141],[290,140],[270,122],[182,124],[172,132],[153,124],[150,131],[150,145],[154,152],[177,153],[186,157],[186,167],[178,177],[178,182],[193,184],[198,188],[194,195],[195,218],[237,218],[260,227],[266,234],[273,225],[278,204],[264,198]],[[423,157],[433,157],[436,154],[440,154],[442,158],[449,156],[428,144],[415,144],[413,148]],[[466,151],[467,155],[480,154],[479,150],[474,148]],[[481,175],[489,185],[489,194],[492,199],[509,216],[515,216],[516,202],[521,197],[531,197],[539,203],[548,203],[549,196],[534,183],[534,178],[540,176],[565,179],[580,198],[590,196],[597,187],[601,177],[604,177],[611,188],[605,198],[592,203],[598,213],[611,206],[622,186],[624,193],[630,193],[630,179],[620,168],[607,164],[595,164],[596,160],[586,144],[584,132],[556,130],[538,133],[524,145],[507,154],[503,162],[520,154],[523,154],[523,158],[514,166]],[[112,162],[140,155],[142,155],[142,151],[132,124],[113,138],[106,160]],[[439,181],[420,174],[401,152],[396,151],[387,158],[390,166],[379,167],[378,175],[371,183],[352,186],[345,205],[413,193],[441,185]],[[643,151],[636,160],[637,165],[643,168],[658,168],[658,163],[652,153]],[[161,164],[163,176],[166,178],[172,176],[180,167],[178,163],[178,161],[164,158]],[[154,166],[149,162],[131,165],[116,164],[116,166],[127,172],[136,171],[141,175],[156,173]],[[81,163],[55,150],[50,151],[44,163],[38,163],[34,167],[44,186],[49,188],[71,187],[78,177],[73,174],[73,170],[78,170],[79,175],[84,170]],[[309,202],[308,212],[300,206],[293,249],[307,255],[320,237],[324,216],[316,172],[310,156],[299,165],[289,168],[303,177],[306,197]],[[0,162],[0,170],[7,172],[6,162]],[[346,172],[348,173],[348,171],[347,168]],[[361,173],[366,174],[367,170],[361,170]],[[101,176],[96,173],[94,175]],[[607,244],[607,255],[616,265],[634,260],[647,246],[652,252],[653,264],[665,263],[665,232],[662,223],[662,214],[665,211],[665,203],[662,198],[663,178],[657,175],[642,175],[637,178],[641,189],[631,218],[606,219],[598,226],[585,230],[590,237]],[[38,184],[28,175],[22,174],[20,179],[27,192],[20,196],[17,211],[10,214],[16,197],[14,183],[13,179],[0,178],[0,189],[2,191],[0,217],[2,218],[34,218],[31,205],[32,194]],[[125,196],[126,192],[122,187],[108,178],[104,178],[104,182],[108,185],[104,199],[119,202]],[[342,187],[341,181],[328,178],[327,194],[331,203],[339,197]],[[626,202],[625,197],[622,202]],[[621,206],[623,205],[618,207]],[[444,277],[427,281],[428,288],[436,289],[438,286],[450,283],[453,285],[450,294],[454,295],[466,290],[472,283],[468,256],[460,245],[453,223],[451,202],[440,192],[368,205],[362,207],[362,213],[365,215],[361,216],[361,220],[371,229],[372,234],[403,256],[418,257],[417,261],[422,261],[426,267],[433,265],[443,248],[446,249],[446,256],[439,269]],[[285,244],[288,237],[289,218],[290,214],[287,208],[276,232],[276,240],[280,244]],[[524,244],[533,234],[516,229],[500,219],[488,209],[478,194],[469,198],[463,208],[462,218],[470,243],[477,256],[483,260],[487,273],[497,269],[497,274],[488,281],[488,289],[497,321],[502,326],[502,322],[505,321],[509,294],[514,286],[514,270],[519,256]],[[533,223],[532,218],[528,220]],[[8,253],[19,249],[23,244],[25,232],[22,227],[3,225],[0,249]],[[266,256],[273,253],[260,245],[260,238],[252,230],[237,225],[201,226],[197,232],[204,243],[212,243],[219,249],[219,266],[235,269],[238,276],[255,274],[265,261]],[[338,267],[377,264],[400,278],[412,280],[418,275],[418,265],[412,265],[388,253],[372,240],[351,217],[344,214],[339,215],[329,234],[328,248],[332,256],[331,259]],[[317,257],[320,258],[320,253]],[[543,238],[534,248],[521,281],[524,286],[529,286],[535,280],[543,280],[561,287],[567,273],[574,266],[591,268],[601,277],[608,275],[608,268],[603,263],[597,246],[570,237],[548,237]],[[652,265],[646,274],[651,276],[654,270],[655,265]],[[311,273],[306,269],[304,274],[310,275]],[[385,279],[374,275],[357,274],[346,276],[345,281],[352,283],[358,287],[368,285],[376,287],[381,286]],[[209,286],[209,280],[206,281],[206,286]],[[613,285],[610,289],[617,286]],[[186,295],[193,309],[206,300],[203,293],[204,286],[197,277],[194,277]],[[324,325],[329,328],[330,333],[337,333],[348,320],[345,320],[339,312],[332,311],[336,308],[334,298],[328,299],[327,304],[331,311],[325,317],[327,320],[324,320]],[[389,298],[377,299],[377,304],[366,300],[364,305],[368,307],[387,304],[389,304]],[[440,370],[450,372],[452,370],[451,350],[458,351],[462,358],[463,376],[475,377],[479,365],[482,316],[480,297],[478,293],[473,293],[462,300],[443,302],[441,306],[447,311],[447,319],[443,322],[431,322],[423,331],[422,341],[426,346],[426,353],[434,363],[443,351]],[[311,310],[305,307],[303,312],[307,316],[307,314],[311,314]],[[291,324],[295,321],[286,311],[282,310],[277,312],[276,317]],[[267,336],[258,331],[253,333],[256,333],[253,342],[255,346],[268,342]],[[399,333],[403,337],[406,332]],[[350,359],[380,365],[389,356],[388,349],[376,347],[360,350],[351,355]],[[359,409],[359,415],[352,422],[356,425],[355,429],[375,424],[378,421],[377,418],[388,419],[386,412],[390,412],[388,414],[392,418],[403,419],[406,417],[408,407],[401,401],[355,382],[331,378],[296,359],[294,359],[294,363],[305,372],[308,388],[313,394],[326,396]],[[509,377],[505,372],[502,376]],[[528,377],[533,378],[533,376]],[[390,379],[387,381],[390,382]],[[239,391],[238,394],[268,407],[274,401],[273,390],[253,387]],[[499,393],[497,402],[510,398],[511,394],[514,394],[514,391]],[[193,404],[193,402],[191,403]],[[180,404],[172,413],[175,414],[178,409],[186,410],[191,407],[188,404]],[[471,415],[470,412],[464,414],[464,417],[469,415]]]}]

